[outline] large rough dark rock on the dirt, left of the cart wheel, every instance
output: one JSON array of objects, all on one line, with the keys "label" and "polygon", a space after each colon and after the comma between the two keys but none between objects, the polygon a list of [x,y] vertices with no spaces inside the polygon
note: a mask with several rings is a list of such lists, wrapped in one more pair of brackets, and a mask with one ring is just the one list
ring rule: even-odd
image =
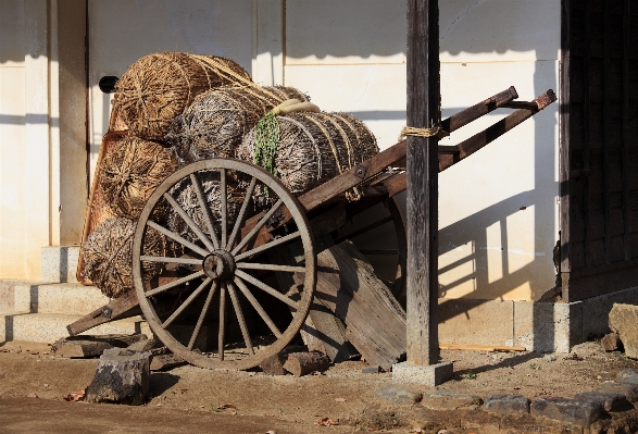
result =
[{"label": "large rough dark rock on the dirt, left of the cart wheel", "polygon": [[148,351],[107,349],[100,357],[96,376],[87,387],[89,402],[120,402],[139,406],[149,390]]}]

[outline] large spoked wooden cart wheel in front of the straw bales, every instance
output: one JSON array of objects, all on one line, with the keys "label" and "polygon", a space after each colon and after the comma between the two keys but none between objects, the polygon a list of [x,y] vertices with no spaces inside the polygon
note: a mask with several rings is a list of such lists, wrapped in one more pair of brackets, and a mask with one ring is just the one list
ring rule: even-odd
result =
[{"label": "large spoked wooden cart wheel in front of the straw bales", "polygon": [[[179,191],[185,189],[191,198],[187,207],[179,203]],[[267,195],[267,206],[257,207],[255,191],[261,191],[262,199]],[[172,208],[189,236],[153,221],[158,207]],[[247,224],[255,209],[262,213]],[[276,227],[286,213],[292,219]],[[276,230],[270,240],[258,245],[264,226]],[[178,243],[183,249],[175,250],[180,253],[146,256],[142,246],[149,230]],[[301,266],[268,263],[268,256],[262,255],[298,239],[303,246]],[[180,275],[145,284],[146,261],[176,266]],[[175,355],[201,368],[250,369],[284,349],[310,310],[315,261],[313,237],[299,201],[263,169],[232,159],[196,162],[167,177],[149,198],[133,246],[135,289],[151,330]],[[295,273],[303,285],[295,294],[282,294],[268,284],[272,271]],[[259,335],[260,326],[266,333]]]}]

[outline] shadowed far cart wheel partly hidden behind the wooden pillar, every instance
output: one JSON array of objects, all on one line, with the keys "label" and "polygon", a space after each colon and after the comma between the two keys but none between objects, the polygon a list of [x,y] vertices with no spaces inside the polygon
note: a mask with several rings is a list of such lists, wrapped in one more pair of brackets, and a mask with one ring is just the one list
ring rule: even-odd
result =
[{"label": "shadowed far cart wheel partly hidden behind the wooden pillar", "polygon": [[351,240],[374,268],[375,274],[405,309],[408,239],[405,221],[395,197],[355,215],[339,228],[335,243]]}]

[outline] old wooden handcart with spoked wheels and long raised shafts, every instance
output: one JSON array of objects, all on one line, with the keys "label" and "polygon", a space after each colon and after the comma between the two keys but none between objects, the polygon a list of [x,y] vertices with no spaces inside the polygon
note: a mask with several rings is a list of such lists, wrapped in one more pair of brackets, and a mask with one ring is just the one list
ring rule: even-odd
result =
[{"label": "old wooden handcart with spoked wheels and long raised shafts", "polygon": [[[517,97],[510,87],[442,121],[441,128],[452,133],[496,109],[515,109],[458,146],[439,146],[439,172],[556,100],[552,90],[529,102],[514,101]],[[405,232],[393,198],[406,188],[405,146],[402,140],[300,197],[245,161],[212,159],[175,172],[152,194],[138,221],[133,246],[135,290],[70,324],[68,333],[77,335],[141,313],[155,336],[189,363],[253,368],[282,351],[307,320],[317,276],[315,239],[353,238],[381,224],[393,225],[396,232],[397,270],[393,278],[385,281],[400,298]],[[191,195],[197,209],[187,212],[179,206],[176,195],[180,191]],[[340,231],[353,215],[379,203],[386,203],[389,215],[349,234]],[[173,208],[187,235],[155,221],[157,207]],[[145,255],[149,231],[164,234],[176,248],[165,257]],[[383,247],[362,252],[387,253]],[[276,255],[284,248],[287,255]],[[153,264],[163,272],[145,278],[145,266]],[[277,275],[282,274],[298,285],[279,290]]]}]

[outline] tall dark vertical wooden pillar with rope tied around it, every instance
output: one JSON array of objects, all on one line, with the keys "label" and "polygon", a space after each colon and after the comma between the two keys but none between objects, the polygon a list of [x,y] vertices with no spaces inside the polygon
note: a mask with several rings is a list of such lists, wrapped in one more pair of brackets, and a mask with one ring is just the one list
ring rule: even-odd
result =
[{"label": "tall dark vertical wooden pillar with rope tied around it", "polygon": [[[440,120],[438,0],[408,0],[408,126]],[[408,364],[438,362],[438,138],[408,136]]]}]

